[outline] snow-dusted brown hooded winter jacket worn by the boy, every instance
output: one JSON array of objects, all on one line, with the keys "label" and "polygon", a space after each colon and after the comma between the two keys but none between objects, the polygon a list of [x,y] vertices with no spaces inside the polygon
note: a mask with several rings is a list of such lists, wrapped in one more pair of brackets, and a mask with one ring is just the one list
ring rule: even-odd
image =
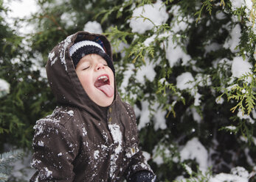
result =
[{"label": "snow-dusted brown hooded winter jacket worn by the boy", "polygon": [[151,171],[138,146],[134,110],[115,86],[111,106],[91,101],[75,72],[69,48],[76,39],[100,37],[112,58],[111,45],[100,34],[77,32],[55,46],[46,73],[59,106],[38,120],[33,139],[30,181],[122,181],[134,172]]}]

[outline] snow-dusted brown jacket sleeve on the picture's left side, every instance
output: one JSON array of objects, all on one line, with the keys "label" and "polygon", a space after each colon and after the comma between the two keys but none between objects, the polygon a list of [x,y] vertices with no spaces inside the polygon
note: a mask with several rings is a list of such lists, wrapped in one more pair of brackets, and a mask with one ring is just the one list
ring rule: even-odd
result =
[{"label": "snow-dusted brown jacket sleeve on the picture's left side", "polygon": [[51,119],[38,120],[34,129],[31,166],[36,172],[30,182],[73,181],[75,174],[72,162],[77,146],[69,132],[58,121]]}]

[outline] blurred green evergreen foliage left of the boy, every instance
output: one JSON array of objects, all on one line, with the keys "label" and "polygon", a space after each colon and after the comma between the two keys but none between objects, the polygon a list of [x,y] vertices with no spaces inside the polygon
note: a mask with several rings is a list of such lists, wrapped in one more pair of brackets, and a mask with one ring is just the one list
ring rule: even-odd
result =
[{"label": "blurred green evergreen foliage left of the boy", "polygon": [[54,100],[46,87],[46,76],[41,74],[40,57],[24,44],[28,37],[18,35],[4,20],[10,10],[3,1],[0,11],[0,79],[10,84],[9,94],[0,98],[0,152],[3,152],[6,143],[31,148],[35,120],[52,111]]}]

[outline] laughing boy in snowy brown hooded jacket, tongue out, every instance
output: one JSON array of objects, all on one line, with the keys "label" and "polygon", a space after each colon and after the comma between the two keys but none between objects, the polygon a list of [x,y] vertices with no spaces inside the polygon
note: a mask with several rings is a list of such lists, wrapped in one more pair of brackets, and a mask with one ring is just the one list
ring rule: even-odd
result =
[{"label": "laughing boy in snowy brown hooded jacket, tongue out", "polygon": [[154,181],[106,37],[70,35],[49,54],[46,73],[58,106],[34,127],[30,181]]}]

